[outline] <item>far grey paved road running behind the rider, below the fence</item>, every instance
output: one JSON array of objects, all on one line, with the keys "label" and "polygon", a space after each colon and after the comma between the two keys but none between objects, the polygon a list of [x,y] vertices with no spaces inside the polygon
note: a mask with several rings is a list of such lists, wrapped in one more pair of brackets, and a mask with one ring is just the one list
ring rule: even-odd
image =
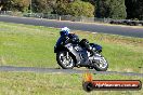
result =
[{"label": "far grey paved road running behind the rider, below the fence", "polygon": [[84,31],[91,31],[91,32],[104,32],[104,33],[143,38],[143,28],[106,26],[101,24],[57,22],[57,21],[46,21],[46,19],[39,19],[39,18],[24,18],[24,17],[22,18],[22,17],[12,17],[12,16],[0,16],[0,22],[48,26],[48,27],[55,27],[55,28],[62,28],[66,26],[75,30],[84,30]]}]

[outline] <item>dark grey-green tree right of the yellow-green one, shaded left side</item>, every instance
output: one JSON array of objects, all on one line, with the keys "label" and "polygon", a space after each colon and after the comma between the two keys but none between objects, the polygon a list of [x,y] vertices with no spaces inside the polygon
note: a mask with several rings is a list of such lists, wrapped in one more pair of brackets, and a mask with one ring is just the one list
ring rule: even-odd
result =
[{"label": "dark grey-green tree right of the yellow-green one, shaded left side", "polygon": [[125,0],[98,0],[96,16],[109,18],[126,18]]}]

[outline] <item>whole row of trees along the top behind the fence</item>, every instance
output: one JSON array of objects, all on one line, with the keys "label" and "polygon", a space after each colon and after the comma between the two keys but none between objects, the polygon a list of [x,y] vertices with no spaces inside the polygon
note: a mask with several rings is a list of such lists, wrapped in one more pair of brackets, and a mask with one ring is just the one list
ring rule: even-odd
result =
[{"label": "whole row of trees along the top behind the fence", "polygon": [[0,11],[143,19],[143,0],[0,0]]}]

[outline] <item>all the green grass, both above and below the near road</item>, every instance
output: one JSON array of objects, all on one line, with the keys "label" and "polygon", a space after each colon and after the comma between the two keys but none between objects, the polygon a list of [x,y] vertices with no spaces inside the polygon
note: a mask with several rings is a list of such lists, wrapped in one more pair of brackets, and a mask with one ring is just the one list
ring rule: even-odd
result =
[{"label": "all the green grass, both above and below the near road", "polygon": [[[53,46],[60,29],[0,23],[0,66],[57,68]],[[143,39],[73,31],[103,46],[110,71],[143,72]],[[140,77],[93,74],[99,80],[141,80]],[[141,91],[82,90],[82,74],[0,72],[0,95],[143,95]]]}]

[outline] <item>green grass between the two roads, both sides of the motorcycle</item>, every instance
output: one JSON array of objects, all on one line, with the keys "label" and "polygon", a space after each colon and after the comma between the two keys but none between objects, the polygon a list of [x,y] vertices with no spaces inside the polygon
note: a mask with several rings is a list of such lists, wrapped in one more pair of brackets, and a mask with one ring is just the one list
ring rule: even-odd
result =
[{"label": "green grass between the two roads, both sides of the motorcycle", "polygon": [[[58,67],[53,46],[60,29],[43,26],[0,23],[0,65]],[[73,31],[80,39],[103,46],[108,70],[143,72],[143,39]]]}]

